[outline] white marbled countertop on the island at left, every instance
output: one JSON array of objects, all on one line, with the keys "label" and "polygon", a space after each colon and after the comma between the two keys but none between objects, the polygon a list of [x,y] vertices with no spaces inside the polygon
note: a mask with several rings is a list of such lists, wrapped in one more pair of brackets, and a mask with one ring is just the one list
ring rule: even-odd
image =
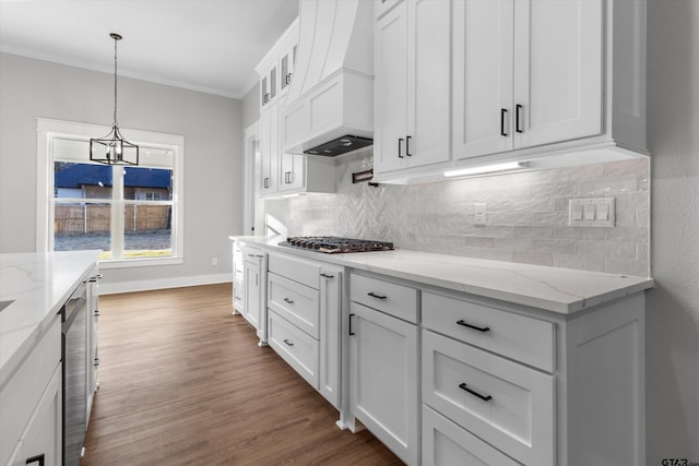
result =
[{"label": "white marbled countertop on the island at left", "polygon": [[0,254],[0,386],[85,279],[100,251]]}]

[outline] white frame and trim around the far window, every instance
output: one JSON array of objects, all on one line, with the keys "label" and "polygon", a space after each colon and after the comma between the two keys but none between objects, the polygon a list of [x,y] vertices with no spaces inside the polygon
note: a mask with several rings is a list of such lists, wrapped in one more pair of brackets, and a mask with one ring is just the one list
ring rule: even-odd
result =
[{"label": "white frame and trim around the far window", "polygon": [[[88,141],[91,138],[102,138],[110,131],[110,127],[79,123],[73,121],[36,119],[36,251],[54,250],[54,154],[52,140],[55,138]],[[129,141],[149,147],[168,148],[173,154],[173,254],[167,258],[129,258],[99,261],[100,268],[121,268],[132,266],[151,266],[181,264],[185,261],[185,228],[183,228],[183,156],[185,136],[179,134],[159,133],[132,129],[121,129],[128,134]],[[126,200],[125,200],[126,201]]]}]

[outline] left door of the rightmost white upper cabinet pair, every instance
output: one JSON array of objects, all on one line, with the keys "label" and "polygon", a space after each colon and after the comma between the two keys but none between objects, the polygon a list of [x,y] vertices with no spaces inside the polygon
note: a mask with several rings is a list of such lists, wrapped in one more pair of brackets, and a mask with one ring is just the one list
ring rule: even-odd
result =
[{"label": "left door of the rightmost white upper cabinet pair", "polygon": [[512,148],[513,0],[453,5],[453,158]]}]

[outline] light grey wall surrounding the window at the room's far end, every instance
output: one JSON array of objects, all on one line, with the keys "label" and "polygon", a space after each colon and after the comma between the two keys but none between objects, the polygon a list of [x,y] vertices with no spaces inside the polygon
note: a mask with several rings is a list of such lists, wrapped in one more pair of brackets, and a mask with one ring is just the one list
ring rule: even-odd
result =
[{"label": "light grey wall surrounding the window at the room's far end", "polygon": [[[0,53],[0,252],[36,248],[36,117],[110,126],[112,109],[111,74]],[[237,99],[119,79],[120,126],[185,135],[185,263],[106,270],[107,289],[229,279],[227,238],[242,231],[240,113]]]}]

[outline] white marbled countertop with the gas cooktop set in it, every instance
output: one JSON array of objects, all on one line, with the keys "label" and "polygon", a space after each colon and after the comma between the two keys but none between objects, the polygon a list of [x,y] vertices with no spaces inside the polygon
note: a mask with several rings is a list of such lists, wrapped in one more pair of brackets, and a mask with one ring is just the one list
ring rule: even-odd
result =
[{"label": "white marbled countertop with the gas cooktop set in it", "polygon": [[426,285],[570,314],[653,287],[648,277],[487,261],[410,250],[323,254],[277,246],[283,239],[232,240]]}]

